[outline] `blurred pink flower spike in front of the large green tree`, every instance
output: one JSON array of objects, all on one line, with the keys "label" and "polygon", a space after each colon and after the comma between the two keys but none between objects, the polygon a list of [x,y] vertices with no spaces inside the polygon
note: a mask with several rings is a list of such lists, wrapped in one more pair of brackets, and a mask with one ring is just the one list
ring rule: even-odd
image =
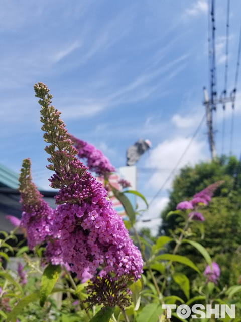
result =
[{"label": "blurred pink flower spike in front of the large green tree", "polygon": [[211,197],[213,196],[215,190],[223,183],[223,180],[219,180],[209,185],[205,189],[196,193],[193,196],[193,199],[190,201],[182,201],[180,202],[176,209],[177,210],[193,210],[188,214],[188,218],[194,221],[204,221],[204,217],[200,212],[197,212],[198,209],[203,206],[208,206],[208,203],[211,201]]}]

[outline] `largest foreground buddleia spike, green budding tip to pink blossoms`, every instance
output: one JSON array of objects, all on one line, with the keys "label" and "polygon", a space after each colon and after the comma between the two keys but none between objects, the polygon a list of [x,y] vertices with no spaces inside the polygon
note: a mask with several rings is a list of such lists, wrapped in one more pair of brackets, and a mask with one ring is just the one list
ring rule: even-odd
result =
[{"label": "largest foreground buddleia spike, green budding tip to pink blossoms", "polygon": [[[40,98],[44,140],[49,143],[45,148],[50,154],[47,168],[55,172],[50,186],[60,189],[52,229],[60,233],[64,260],[79,279],[86,269],[94,275],[101,267],[104,275],[98,277],[100,280],[107,275],[116,285],[122,276],[137,280],[143,267],[140,251],[129,237],[122,218],[112,208],[107,191],[76,157],[78,151],[72,146],[60,112],[50,105],[49,89],[43,83],[35,84],[34,89],[35,96]],[[104,302],[102,297],[99,304]]]}]

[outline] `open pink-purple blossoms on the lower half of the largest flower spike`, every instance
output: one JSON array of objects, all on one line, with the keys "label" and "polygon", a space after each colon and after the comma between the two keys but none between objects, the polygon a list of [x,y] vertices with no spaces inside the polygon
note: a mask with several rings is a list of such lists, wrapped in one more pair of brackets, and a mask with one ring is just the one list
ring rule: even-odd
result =
[{"label": "open pink-purple blossoms on the lower half of the largest flower spike", "polygon": [[105,273],[131,274],[136,280],[143,267],[140,251],[129,237],[122,218],[112,209],[106,190],[94,178],[90,183],[78,184],[79,191],[82,186],[88,189],[88,198],[79,204],[61,204],[54,210],[52,229],[54,233],[60,232],[63,258],[71,263],[71,270],[80,279],[85,269],[96,274],[102,265]]}]

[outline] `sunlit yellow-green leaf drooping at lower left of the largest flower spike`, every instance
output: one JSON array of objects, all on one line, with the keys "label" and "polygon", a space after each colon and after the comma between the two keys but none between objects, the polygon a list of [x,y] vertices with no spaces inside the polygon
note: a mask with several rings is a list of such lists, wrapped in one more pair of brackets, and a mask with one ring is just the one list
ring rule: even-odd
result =
[{"label": "sunlit yellow-green leaf drooping at lower left of the largest flower spike", "polygon": [[40,306],[43,307],[46,298],[52,292],[54,285],[61,273],[60,265],[49,264],[43,273],[40,287]]}]

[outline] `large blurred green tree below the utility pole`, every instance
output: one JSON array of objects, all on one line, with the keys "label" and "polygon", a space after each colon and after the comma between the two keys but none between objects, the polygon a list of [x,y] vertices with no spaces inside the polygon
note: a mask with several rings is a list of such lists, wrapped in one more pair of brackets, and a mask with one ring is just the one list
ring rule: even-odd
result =
[{"label": "large blurred green tree below the utility pole", "polygon": [[[215,262],[221,268],[219,287],[240,283],[241,265],[241,171],[240,164],[234,156],[222,156],[215,161],[202,162],[194,167],[186,166],[173,181],[170,192],[170,201],[162,212],[160,235],[170,235],[183,220],[182,217],[172,215],[167,217],[171,210],[175,210],[179,202],[190,200],[192,196],[208,185],[224,180],[217,188],[212,201],[201,212],[205,218],[203,223],[196,222],[192,238],[202,244]],[[172,245],[171,245],[172,248]],[[200,253],[191,245],[183,244],[178,251],[179,255],[188,256],[201,271],[205,269],[205,262]],[[180,271],[191,280],[199,277],[188,268]],[[201,281],[200,281],[201,282]]]}]

